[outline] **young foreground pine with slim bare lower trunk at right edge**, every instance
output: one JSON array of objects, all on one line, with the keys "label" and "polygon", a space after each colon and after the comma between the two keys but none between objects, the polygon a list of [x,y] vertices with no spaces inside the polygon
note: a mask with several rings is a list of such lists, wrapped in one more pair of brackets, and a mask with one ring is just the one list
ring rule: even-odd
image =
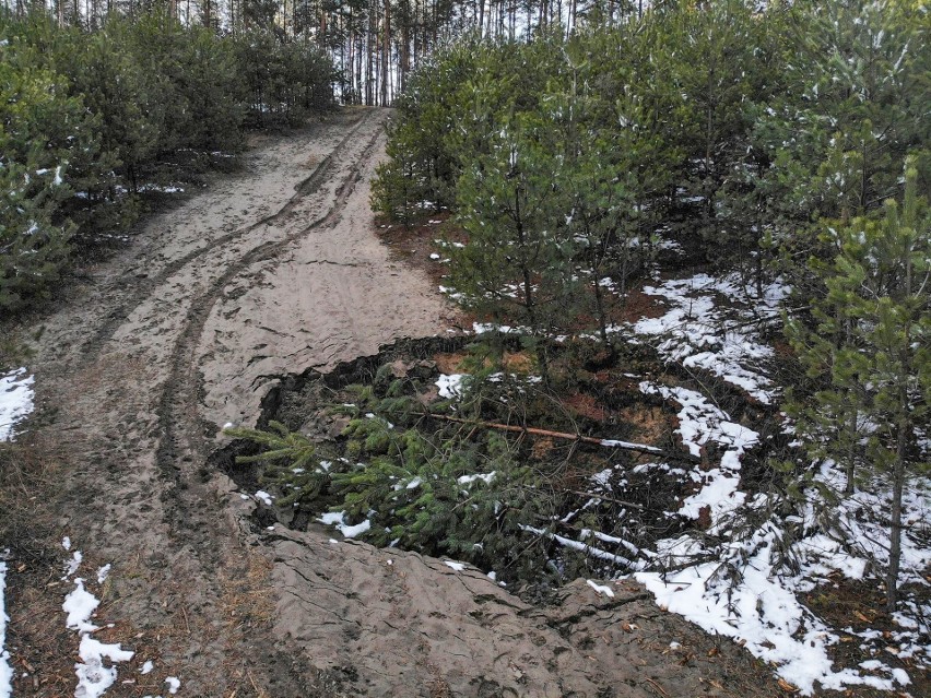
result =
[{"label": "young foreground pine with slim bare lower trunk at right edge", "polygon": [[855,463],[891,489],[889,612],[898,595],[905,484],[929,465],[917,429],[931,414],[931,216],[917,180],[909,159],[901,206],[888,200],[882,220],[856,218],[830,232],[836,258],[812,269],[827,291],[813,304],[818,326],[788,324],[802,362],[829,370],[827,389],[800,414],[809,456],[847,463],[848,493]]}]

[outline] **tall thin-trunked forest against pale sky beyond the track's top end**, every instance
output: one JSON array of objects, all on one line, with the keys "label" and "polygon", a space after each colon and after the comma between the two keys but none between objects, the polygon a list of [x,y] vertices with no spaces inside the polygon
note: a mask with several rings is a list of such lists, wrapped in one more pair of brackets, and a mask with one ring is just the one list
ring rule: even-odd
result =
[{"label": "tall thin-trunked forest against pale sky beyond the track's top end", "polygon": [[668,0],[3,0],[22,17],[47,14],[58,26],[101,28],[113,16],[164,13],[185,26],[223,36],[258,27],[279,42],[314,44],[332,57],[344,104],[389,106],[438,46],[464,34],[528,39],[544,31],[571,35],[579,26],[643,16]]}]

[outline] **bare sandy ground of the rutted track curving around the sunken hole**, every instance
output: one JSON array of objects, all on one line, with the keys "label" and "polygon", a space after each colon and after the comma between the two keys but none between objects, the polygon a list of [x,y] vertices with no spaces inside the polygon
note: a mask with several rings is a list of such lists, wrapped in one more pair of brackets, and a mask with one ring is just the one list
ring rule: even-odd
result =
[{"label": "bare sandy ground of the rutted track curving around the sunken hole", "polygon": [[[385,110],[269,139],[246,171],[154,216],[44,320],[27,443],[57,454],[28,505],[49,540],[113,571],[101,632],[138,651],[108,696],[774,696],[735,646],[657,608],[636,584],[584,582],[530,606],[478,570],[260,530],[209,464],[226,422],[251,425],[285,374],[326,369],[453,310],[374,234],[367,180]],[[13,545],[14,553],[16,545]],[[61,558],[11,565],[16,696],[73,695]],[[677,642],[676,649],[670,643]],[[25,667],[25,669],[23,669]]]}]

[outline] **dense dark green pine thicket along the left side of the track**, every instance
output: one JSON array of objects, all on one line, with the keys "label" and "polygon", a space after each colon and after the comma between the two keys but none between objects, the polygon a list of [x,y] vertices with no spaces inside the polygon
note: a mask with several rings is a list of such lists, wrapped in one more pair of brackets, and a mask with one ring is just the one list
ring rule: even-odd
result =
[{"label": "dense dark green pine thicket along the left side of the track", "polygon": [[228,159],[245,128],[329,106],[332,75],[271,27],[223,37],[154,13],[87,32],[0,12],[0,310],[125,230],[140,193]]}]

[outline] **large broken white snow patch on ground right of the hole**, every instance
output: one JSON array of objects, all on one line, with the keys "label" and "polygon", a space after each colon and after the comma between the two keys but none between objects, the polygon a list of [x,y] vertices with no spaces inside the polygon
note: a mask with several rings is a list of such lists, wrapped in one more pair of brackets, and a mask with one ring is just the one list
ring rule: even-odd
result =
[{"label": "large broken white snow patch on ground right of the hole", "polygon": [[[644,319],[633,326],[635,333],[658,339],[660,355],[681,362],[685,367],[707,370],[746,391],[759,402],[770,403],[778,387],[766,375],[773,350],[756,335],[755,319],[777,317],[778,303],[787,289],[780,284],[766,288],[764,297],[750,307],[738,307],[734,299],[749,299],[735,277],[717,280],[705,274],[667,281],[645,292],[663,296],[669,306],[661,318]],[[729,299],[727,308],[715,304],[716,297]],[[755,305],[754,305],[755,304]],[[868,559],[885,565],[888,558],[888,533],[883,512],[889,510],[888,486],[880,482],[864,486],[842,499],[837,521],[840,530],[825,531],[817,518],[820,493],[809,488],[803,516],[796,517],[800,534],[789,551],[794,570],[780,567],[785,527],[789,521],[764,513],[771,508],[765,494],[749,497],[739,489],[740,461],[759,435],[731,421],[730,416],[702,393],[682,387],[667,387],[648,381],[640,383],[645,393],[659,394],[680,405],[676,433],[693,456],[706,456],[707,446],[717,445],[721,453],[717,465],[684,471],[702,488],[687,497],[677,513],[697,518],[703,508],[710,512],[707,533],[717,535],[682,535],[659,541],[656,551],[644,551],[652,560],[648,571],[634,576],[657,598],[657,603],[684,616],[708,632],[724,635],[745,644],[755,656],[776,666],[779,676],[796,685],[803,695],[817,687],[841,690],[846,686],[867,685],[881,690],[895,690],[910,683],[901,669],[892,669],[880,660],[859,669],[835,671],[827,648],[839,641],[838,632],[859,635],[879,653],[888,651],[908,658],[917,671],[931,665],[928,647],[928,618],[931,605],[906,600],[894,619],[901,628],[884,636],[879,630],[856,632],[852,628],[829,628],[798,601],[798,595],[828,581],[840,572],[848,579],[862,579]],[[640,470],[669,465],[653,463]],[[816,480],[835,492],[842,492],[842,475],[834,464],[823,465]],[[924,570],[931,566],[931,511],[928,478],[911,481],[904,495],[907,530],[903,531],[901,583],[928,585]],[[765,524],[751,527],[738,534],[729,530],[740,517],[754,514]],[[597,534],[596,534],[597,535]],[[707,560],[715,561],[707,561]],[[683,563],[694,564],[684,567]],[[667,567],[652,571],[656,565]],[[634,567],[636,570],[637,568]],[[645,569],[644,567],[640,568]],[[667,571],[673,570],[673,571]],[[879,654],[882,656],[882,654]]]}]

